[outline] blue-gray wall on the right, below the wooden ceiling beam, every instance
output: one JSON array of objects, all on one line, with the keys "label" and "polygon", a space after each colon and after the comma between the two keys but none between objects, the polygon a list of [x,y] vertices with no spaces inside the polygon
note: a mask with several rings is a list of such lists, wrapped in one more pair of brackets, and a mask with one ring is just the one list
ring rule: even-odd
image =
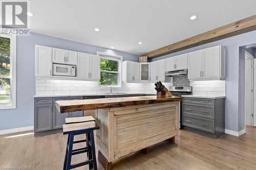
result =
[{"label": "blue-gray wall on the right, below the wooden ceiling beam", "polygon": [[[201,50],[215,45],[226,47],[226,107],[225,128],[232,131],[244,129],[244,111],[239,110],[239,46],[256,42],[256,31],[244,33],[234,37],[210,42],[204,45],[189,48],[187,50],[158,57],[150,61],[160,60],[179,54]],[[241,129],[242,128],[242,129]]]}]

